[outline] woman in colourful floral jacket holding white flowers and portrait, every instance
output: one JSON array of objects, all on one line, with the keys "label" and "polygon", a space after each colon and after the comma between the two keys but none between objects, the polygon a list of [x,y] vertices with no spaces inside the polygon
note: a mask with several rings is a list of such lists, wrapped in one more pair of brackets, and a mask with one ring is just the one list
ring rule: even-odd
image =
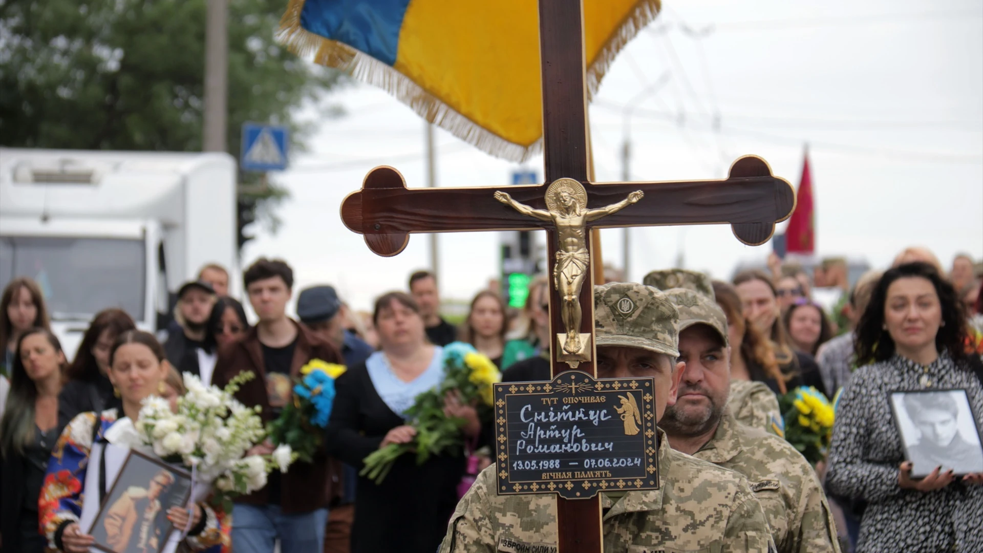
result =
[{"label": "woman in colourful floral jacket holding white flowers and portrait", "polygon": [[[99,466],[87,470],[92,446],[105,443],[106,433],[117,417],[136,420],[141,401],[161,393],[170,370],[160,343],[152,335],[141,331],[120,335],[113,344],[109,362],[109,380],[122,399],[123,412],[108,409],[98,415],[94,412],[79,414],[62,432],[48,461],[38,499],[38,514],[50,550],[65,553],[85,553],[89,550],[93,543],[92,536],[84,533],[79,526],[86,478],[98,478],[98,485],[105,487],[111,484],[99,473]],[[172,507],[167,511],[167,519],[175,528],[191,523],[183,545],[192,551],[211,548],[219,551],[228,543],[227,531],[223,531],[220,523],[223,518],[222,513],[216,513],[205,504],[197,504],[188,510]]]}]

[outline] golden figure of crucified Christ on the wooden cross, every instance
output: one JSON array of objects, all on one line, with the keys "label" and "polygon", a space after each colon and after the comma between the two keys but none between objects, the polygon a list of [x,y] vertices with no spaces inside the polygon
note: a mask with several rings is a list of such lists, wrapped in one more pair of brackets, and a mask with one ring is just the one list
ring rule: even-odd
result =
[{"label": "golden figure of crucified Christ on the wooden cross", "polygon": [[[587,209],[587,191],[580,182],[570,179],[557,179],[547,189],[548,210],[536,210],[520,204],[505,192],[495,192],[495,200],[511,206],[522,215],[551,221],[556,226],[559,247],[556,252],[556,265],[553,267],[553,286],[562,298],[560,315],[566,327],[566,337],[562,339],[562,352],[571,360],[590,360],[587,339],[580,335],[580,288],[587,276],[590,254],[587,252],[587,223],[607,215],[615,214],[642,199],[644,193],[637,190],[628,194],[624,200],[594,210]],[[587,335],[590,337],[590,335]],[[572,366],[576,366],[576,361]]]}]

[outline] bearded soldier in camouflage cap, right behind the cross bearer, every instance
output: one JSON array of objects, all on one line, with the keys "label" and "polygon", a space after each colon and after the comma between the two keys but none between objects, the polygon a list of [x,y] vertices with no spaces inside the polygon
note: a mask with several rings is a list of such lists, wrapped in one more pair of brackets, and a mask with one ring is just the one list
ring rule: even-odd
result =
[{"label": "bearded soldier in camouflage cap, right behind the cross bearer", "polygon": [[836,524],[819,478],[783,439],[738,423],[726,408],[730,378],[727,326],[712,299],[674,288],[679,360],[686,369],[660,427],[673,449],[740,472],[751,482],[783,553],[837,552]]}]

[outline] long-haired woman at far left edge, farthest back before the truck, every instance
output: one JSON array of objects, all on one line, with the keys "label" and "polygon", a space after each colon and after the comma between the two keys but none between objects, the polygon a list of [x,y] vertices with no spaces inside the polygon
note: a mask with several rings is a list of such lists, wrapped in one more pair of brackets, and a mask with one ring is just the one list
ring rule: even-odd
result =
[{"label": "long-haired woman at far left edge, farthest back before the truck", "polygon": [[0,295],[0,375],[14,366],[17,340],[30,329],[51,330],[44,295],[27,276],[11,280]]}]

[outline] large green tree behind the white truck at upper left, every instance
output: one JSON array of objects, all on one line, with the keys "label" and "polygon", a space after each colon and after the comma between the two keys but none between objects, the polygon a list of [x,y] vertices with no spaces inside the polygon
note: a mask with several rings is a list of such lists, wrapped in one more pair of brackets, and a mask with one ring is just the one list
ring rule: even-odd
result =
[{"label": "large green tree behind the white truck at upper left", "polygon": [[[0,0],[0,144],[83,150],[202,150],[206,0]],[[302,105],[336,114],[337,72],[275,42],[287,0],[229,1],[229,153],[245,121],[286,125],[303,147]],[[244,227],[276,228],[286,191],[241,174]]]}]

